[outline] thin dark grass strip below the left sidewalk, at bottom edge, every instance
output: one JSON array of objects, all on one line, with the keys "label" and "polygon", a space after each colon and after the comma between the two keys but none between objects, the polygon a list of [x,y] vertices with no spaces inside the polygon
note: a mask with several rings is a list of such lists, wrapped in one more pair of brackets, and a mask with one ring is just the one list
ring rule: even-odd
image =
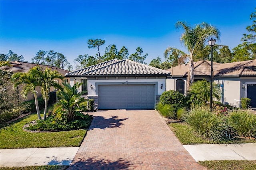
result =
[{"label": "thin dark grass strip below the left sidewalk, at bottom edge", "polygon": [[64,165],[43,165],[43,166],[24,166],[24,167],[0,167],[0,170],[66,170]]}]

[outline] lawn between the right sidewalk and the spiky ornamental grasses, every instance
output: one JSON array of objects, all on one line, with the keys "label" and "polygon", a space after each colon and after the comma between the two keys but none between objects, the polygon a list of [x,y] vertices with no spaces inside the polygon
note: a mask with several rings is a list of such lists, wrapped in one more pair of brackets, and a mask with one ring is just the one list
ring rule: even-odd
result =
[{"label": "lawn between the right sidewalk and the spiky ornamental grasses", "polygon": [[255,139],[236,138],[234,140],[222,139],[220,141],[204,139],[196,135],[193,128],[187,123],[170,123],[168,125],[182,144],[231,144],[256,143]]}]

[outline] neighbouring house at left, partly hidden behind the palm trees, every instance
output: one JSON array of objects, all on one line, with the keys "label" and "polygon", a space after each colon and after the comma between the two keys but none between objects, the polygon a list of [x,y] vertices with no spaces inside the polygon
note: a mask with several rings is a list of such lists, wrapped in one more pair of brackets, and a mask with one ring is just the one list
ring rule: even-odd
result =
[{"label": "neighbouring house at left, partly hidden behind the palm trees", "polygon": [[[69,72],[69,71],[66,71],[64,69],[60,69],[58,67],[53,67],[53,66],[49,66],[49,65],[34,64],[34,63],[27,63],[27,62],[23,62],[23,61],[10,61],[9,63],[11,64],[11,66],[0,67],[0,69],[4,70],[4,71],[10,71],[12,73],[26,73],[32,67],[40,66],[43,69],[50,68],[50,69],[52,69],[52,71],[56,70],[60,74],[62,74],[63,76],[65,76],[65,74]],[[55,81],[58,82],[58,83],[62,83],[62,80],[60,80],[60,79],[56,79]],[[67,77],[65,78],[65,81],[70,82]],[[12,88],[12,86],[9,87],[9,90],[11,90],[10,93],[13,93],[14,90],[11,89],[11,88]],[[50,91],[56,91],[56,90],[58,90],[58,89],[54,89],[53,87],[50,87]],[[19,95],[21,91],[22,91],[21,86],[19,86],[18,91],[16,91],[15,93],[17,93]],[[40,87],[37,87],[36,91],[38,92],[38,97],[41,97],[42,94],[41,94]],[[22,99],[20,96],[19,96],[19,98]],[[26,101],[32,100],[33,98],[34,98],[34,96],[32,95],[32,93],[29,93],[28,98],[26,99]],[[24,99],[22,99],[22,100],[24,100]]]}]

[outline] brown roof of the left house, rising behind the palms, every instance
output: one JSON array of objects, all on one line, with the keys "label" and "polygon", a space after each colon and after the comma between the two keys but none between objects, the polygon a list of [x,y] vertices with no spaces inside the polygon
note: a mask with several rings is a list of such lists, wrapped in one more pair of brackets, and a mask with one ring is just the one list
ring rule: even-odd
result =
[{"label": "brown roof of the left house, rising behind the palms", "polygon": [[38,66],[42,67],[43,69],[50,68],[52,70],[56,70],[60,74],[62,74],[63,76],[65,76],[65,74],[69,72],[69,71],[66,71],[64,69],[60,69],[58,67],[53,67],[53,66],[49,66],[49,65],[34,64],[34,63],[27,63],[27,62],[23,62],[23,61],[10,61],[10,64],[12,66],[0,67],[0,69],[1,70],[6,70],[6,71],[11,71],[12,73],[26,73],[32,67],[35,67],[36,65],[38,65]]}]

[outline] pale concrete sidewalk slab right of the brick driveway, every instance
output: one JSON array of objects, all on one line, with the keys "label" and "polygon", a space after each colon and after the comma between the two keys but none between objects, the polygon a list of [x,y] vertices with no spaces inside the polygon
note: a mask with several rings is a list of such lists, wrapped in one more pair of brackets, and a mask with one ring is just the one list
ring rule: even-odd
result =
[{"label": "pale concrete sidewalk slab right of the brick driveway", "polygon": [[204,160],[256,160],[256,143],[183,146],[196,162]]}]

